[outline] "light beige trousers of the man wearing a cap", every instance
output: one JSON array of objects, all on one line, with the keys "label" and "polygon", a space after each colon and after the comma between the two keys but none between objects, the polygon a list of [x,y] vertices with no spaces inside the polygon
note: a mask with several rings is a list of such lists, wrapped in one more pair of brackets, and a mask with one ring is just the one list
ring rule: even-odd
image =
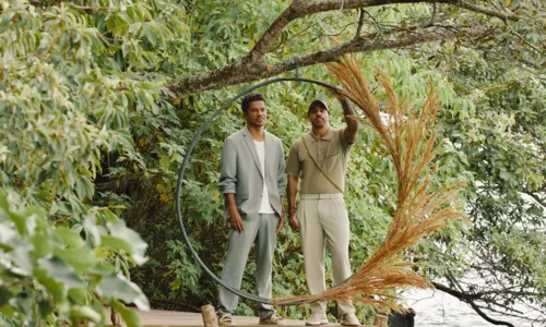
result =
[{"label": "light beige trousers of the man wearing a cap", "polygon": [[[307,286],[311,294],[327,289],[324,279],[324,250],[328,243],[332,256],[334,284],[349,278],[349,227],[343,194],[301,194],[297,210],[301,231]],[[337,301],[340,314],[354,313],[351,302]],[[324,302],[310,304],[311,312],[325,313]]]}]

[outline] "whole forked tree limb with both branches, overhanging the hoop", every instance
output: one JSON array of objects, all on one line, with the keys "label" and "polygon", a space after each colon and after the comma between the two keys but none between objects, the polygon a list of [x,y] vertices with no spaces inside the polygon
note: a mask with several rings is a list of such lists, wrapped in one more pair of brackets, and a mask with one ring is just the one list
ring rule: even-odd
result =
[{"label": "whole forked tree limb with both branches, overhanging the hoop", "polygon": [[[296,68],[306,66],[314,63],[329,62],[336,60],[345,53],[357,51],[373,51],[380,49],[397,49],[406,46],[418,45],[430,41],[438,41],[456,37],[454,33],[446,33],[447,35],[432,35],[422,33],[414,35],[404,40],[389,40],[385,43],[364,41],[359,37],[355,37],[353,41],[332,47],[324,51],[310,53],[307,56],[295,57],[282,61],[274,65],[265,63],[265,55],[275,46],[281,33],[286,26],[299,19],[318,12],[333,11],[340,9],[363,9],[367,7],[378,7],[396,3],[447,3],[460,8],[464,8],[476,13],[486,14],[489,16],[499,17],[502,20],[518,20],[518,16],[496,11],[492,9],[482,8],[463,0],[319,0],[319,1],[302,1],[294,0],[293,3],[271,24],[264,32],[262,37],[257,41],[254,47],[239,61],[218,69],[216,71],[197,74],[187,77],[178,83],[169,86],[169,88],[178,96],[183,96],[201,90],[219,88],[223,86],[235,85],[245,82],[258,81],[290,71]],[[467,32],[473,34],[473,32]]]}]

